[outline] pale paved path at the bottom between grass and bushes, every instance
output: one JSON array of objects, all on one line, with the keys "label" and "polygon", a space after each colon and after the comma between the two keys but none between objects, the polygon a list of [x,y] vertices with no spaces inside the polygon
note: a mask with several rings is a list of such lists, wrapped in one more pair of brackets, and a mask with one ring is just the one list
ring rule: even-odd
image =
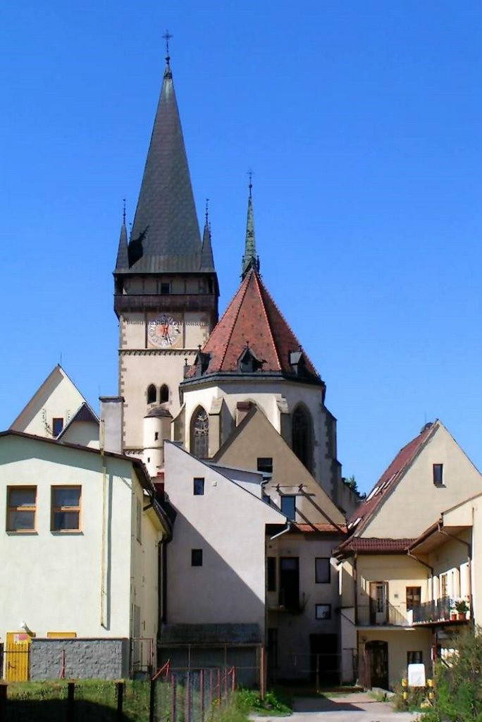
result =
[{"label": "pale paved path at the bottom between grass and bushes", "polygon": [[[394,712],[386,702],[375,702],[366,692],[326,697],[295,697],[289,722],[413,722],[418,715]],[[280,718],[255,718],[280,722]]]}]

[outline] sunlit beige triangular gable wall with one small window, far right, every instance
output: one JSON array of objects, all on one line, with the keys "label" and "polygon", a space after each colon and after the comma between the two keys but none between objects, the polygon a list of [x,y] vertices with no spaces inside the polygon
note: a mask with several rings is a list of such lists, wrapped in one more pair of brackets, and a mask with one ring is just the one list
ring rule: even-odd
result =
[{"label": "sunlit beige triangular gable wall with one small window, far right", "polygon": [[[433,465],[443,464],[443,485],[433,482]],[[482,492],[482,477],[441,425],[403,474],[360,536],[415,539],[443,509]]]}]

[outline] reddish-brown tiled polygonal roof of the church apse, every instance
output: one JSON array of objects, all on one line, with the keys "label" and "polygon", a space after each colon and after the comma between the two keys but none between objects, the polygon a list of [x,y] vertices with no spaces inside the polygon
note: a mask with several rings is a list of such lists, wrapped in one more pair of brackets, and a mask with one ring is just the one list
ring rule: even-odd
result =
[{"label": "reddish-brown tiled polygonal roof of the church apse", "polygon": [[[247,347],[261,362],[257,373],[294,373],[289,355],[298,351],[299,341],[253,269],[245,276],[202,349],[210,355],[205,373],[237,373],[240,357]],[[307,375],[322,383],[310,359],[304,353],[303,357]],[[189,370],[187,378],[193,375],[194,368]]]}]

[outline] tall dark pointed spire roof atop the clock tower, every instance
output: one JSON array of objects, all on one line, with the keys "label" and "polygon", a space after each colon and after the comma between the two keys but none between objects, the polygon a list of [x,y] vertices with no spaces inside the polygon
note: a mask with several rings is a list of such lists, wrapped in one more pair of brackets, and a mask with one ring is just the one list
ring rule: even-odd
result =
[{"label": "tall dark pointed spire roof atop the clock tower", "polygon": [[[123,263],[121,251],[118,262]],[[200,266],[198,218],[167,59],[128,244],[128,268],[118,265],[115,272],[199,271]]]}]

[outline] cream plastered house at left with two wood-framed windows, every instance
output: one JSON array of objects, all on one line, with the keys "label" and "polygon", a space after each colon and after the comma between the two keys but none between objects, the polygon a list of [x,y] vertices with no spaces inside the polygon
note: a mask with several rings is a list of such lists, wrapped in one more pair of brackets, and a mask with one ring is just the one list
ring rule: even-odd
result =
[{"label": "cream plastered house at left with two wood-framed windows", "polygon": [[[155,664],[170,524],[141,461],[0,434],[6,679],[118,678]],[[22,661],[23,660],[23,661]]]}]

